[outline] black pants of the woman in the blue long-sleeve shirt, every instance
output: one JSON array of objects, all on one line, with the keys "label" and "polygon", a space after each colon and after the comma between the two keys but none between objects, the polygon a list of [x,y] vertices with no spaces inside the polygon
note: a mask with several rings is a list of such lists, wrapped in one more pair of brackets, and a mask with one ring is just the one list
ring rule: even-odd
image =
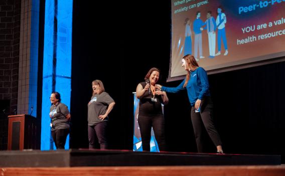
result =
[{"label": "black pants of the woman in the blue long-sleeve shirt", "polygon": [[210,138],[216,146],[221,145],[221,139],[213,122],[213,102],[210,96],[205,96],[201,102],[200,112],[195,112],[195,107],[191,108],[191,120],[194,128],[194,135],[198,152],[203,152],[202,129],[205,126]]}]

